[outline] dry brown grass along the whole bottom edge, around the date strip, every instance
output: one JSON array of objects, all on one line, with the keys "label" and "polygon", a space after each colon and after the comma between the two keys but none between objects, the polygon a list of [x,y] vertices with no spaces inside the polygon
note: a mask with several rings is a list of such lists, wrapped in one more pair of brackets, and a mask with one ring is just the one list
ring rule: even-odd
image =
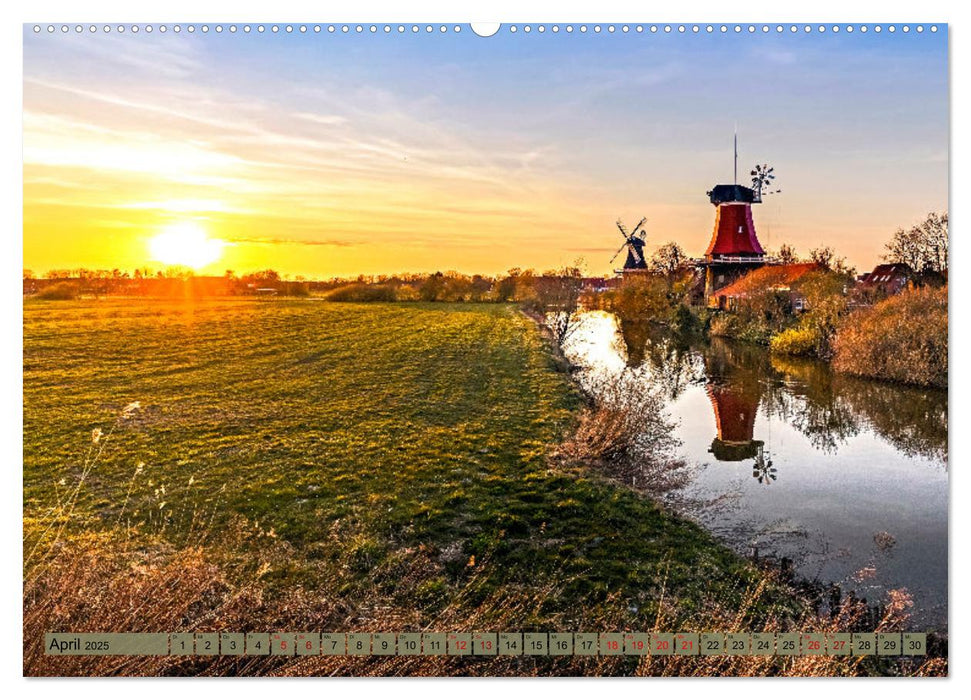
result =
[{"label": "dry brown grass along the whole bottom edge, around the date strip", "polygon": [[[245,539],[245,528],[237,537]],[[120,533],[118,533],[120,534]],[[242,540],[241,540],[242,541]],[[250,543],[251,544],[251,543]],[[24,674],[29,676],[853,676],[874,672],[891,675],[946,675],[941,658],[877,660],[873,657],[111,657],[46,656],[44,632],[214,632],[214,631],[509,631],[523,629],[551,596],[553,586],[516,589],[479,600],[478,579],[434,620],[424,624],[406,603],[438,564],[425,552],[401,552],[384,573],[394,576],[398,591],[388,597],[371,591],[362,603],[348,607],[326,594],[294,589],[273,595],[261,580],[267,568],[287,556],[276,543],[264,549],[261,571],[243,585],[207,556],[203,548],[168,550],[162,545],[132,548],[111,537],[88,537],[58,548],[29,577],[24,589]],[[332,590],[338,590],[341,567],[333,566]],[[865,606],[845,604],[832,617],[806,615],[798,620],[770,618],[757,628],[752,614],[778,581],[767,575],[749,588],[742,603],[727,607],[712,600],[695,623],[680,631],[842,632],[857,629]],[[362,592],[363,593],[363,592]],[[664,596],[662,594],[662,600]],[[367,600],[367,603],[363,601]],[[478,601],[478,602],[474,602]],[[893,592],[875,631],[899,630],[910,605],[903,592]],[[551,630],[639,631],[624,621],[623,606],[611,619],[553,621]],[[653,632],[670,631],[675,611],[662,605]],[[571,626],[572,625],[572,626]]]}]

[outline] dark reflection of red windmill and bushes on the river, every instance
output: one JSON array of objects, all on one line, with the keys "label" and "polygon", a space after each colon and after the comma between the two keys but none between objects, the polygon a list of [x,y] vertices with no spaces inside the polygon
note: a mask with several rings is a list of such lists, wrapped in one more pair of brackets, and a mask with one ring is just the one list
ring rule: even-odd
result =
[{"label": "dark reflection of red windmill and bushes on the river", "polygon": [[[947,461],[946,391],[837,374],[824,362],[722,338],[703,342],[646,323],[616,323],[627,365],[648,366],[652,383],[667,398],[704,384],[717,429],[711,453],[719,461],[756,457],[764,444],[753,435],[760,407],[826,452],[873,430],[908,456]],[[602,322],[597,325],[605,331]]]}]

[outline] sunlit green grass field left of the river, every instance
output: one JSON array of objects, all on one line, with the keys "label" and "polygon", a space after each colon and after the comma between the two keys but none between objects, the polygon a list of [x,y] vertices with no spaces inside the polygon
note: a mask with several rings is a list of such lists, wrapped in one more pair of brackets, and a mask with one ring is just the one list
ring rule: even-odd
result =
[{"label": "sunlit green grass field left of the river", "polygon": [[[701,528],[555,467],[581,399],[515,307],[38,301],[24,317],[28,578],[60,540],[103,537],[143,563],[201,546],[230,588],[258,580],[264,607],[301,591],[339,612],[300,618],[318,629],[798,615],[771,590],[746,608],[761,574]],[[225,624],[204,598],[166,624]],[[245,624],[296,621],[281,610]],[[176,631],[137,620],[121,629]]]}]

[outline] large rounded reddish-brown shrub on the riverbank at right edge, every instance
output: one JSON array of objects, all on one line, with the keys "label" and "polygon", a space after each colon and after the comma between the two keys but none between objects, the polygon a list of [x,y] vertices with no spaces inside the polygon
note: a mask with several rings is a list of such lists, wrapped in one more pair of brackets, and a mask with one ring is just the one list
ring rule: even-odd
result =
[{"label": "large rounded reddish-brown shrub on the riverbank at right edge", "polygon": [[918,289],[850,314],[833,343],[837,371],[947,386],[947,287]]}]

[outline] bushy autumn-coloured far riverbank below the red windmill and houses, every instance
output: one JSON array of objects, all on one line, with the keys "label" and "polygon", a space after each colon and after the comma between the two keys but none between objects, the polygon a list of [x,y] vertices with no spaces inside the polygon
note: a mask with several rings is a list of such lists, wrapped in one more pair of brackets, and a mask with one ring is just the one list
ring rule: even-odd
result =
[{"label": "bushy autumn-coloured far riverbank below the red windmill and houses", "polygon": [[947,387],[946,284],[908,287],[874,300],[853,292],[845,271],[812,271],[798,289],[753,276],[731,300],[723,300],[724,308],[712,309],[691,305],[698,303],[688,293],[691,279],[687,274],[669,282],[658,275],[633,277],[615,289],[585,295],[582,306],[615,313],[629,324],[653,323],[686,336],[730,338],[780,356],[831,362],[837,371],[855,376]]}]

